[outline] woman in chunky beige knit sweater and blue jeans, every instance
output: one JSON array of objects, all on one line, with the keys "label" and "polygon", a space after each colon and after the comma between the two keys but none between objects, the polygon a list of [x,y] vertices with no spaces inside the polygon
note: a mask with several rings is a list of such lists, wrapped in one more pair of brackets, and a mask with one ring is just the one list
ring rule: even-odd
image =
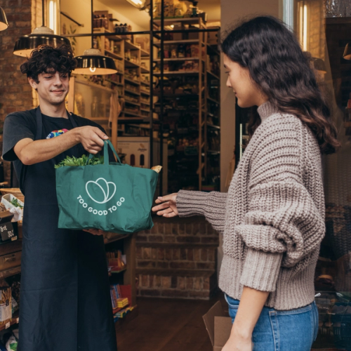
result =
[{"label": "woman in chunky beige knit sweater and blue jeans", "polygon": [[250,143],[227,193],[180,190],[153,211],[202,215],[224,234],[219,284],[233,326],[223,351],[309,351],[325,230],[321,153],[338,148],[336,130],[307,55],[282,22],[246,21],[221,49],[238,105],[258,106]]}]

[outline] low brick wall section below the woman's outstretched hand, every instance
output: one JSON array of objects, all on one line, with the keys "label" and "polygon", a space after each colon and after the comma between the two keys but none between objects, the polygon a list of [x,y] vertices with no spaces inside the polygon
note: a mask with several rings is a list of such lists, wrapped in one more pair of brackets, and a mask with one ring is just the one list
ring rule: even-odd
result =
[{"label": "low brick wall section below the woman's outstretched hand", "polygon": [[218,288],[218,233],[204,217],[154,217],[136,241],[138,296],[208,299]]}]

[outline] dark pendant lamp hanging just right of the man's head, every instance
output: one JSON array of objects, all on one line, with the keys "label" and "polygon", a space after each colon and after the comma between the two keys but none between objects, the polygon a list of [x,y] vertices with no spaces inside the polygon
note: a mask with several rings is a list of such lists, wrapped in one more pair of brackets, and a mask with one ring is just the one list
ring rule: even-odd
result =
[{"label": "dark pendant lamp hanging just right of the man's head", "polygon": [[91,0],[91,48],[77,56],[77,67],[74,73],[102,75],[117,73],[113,58],[102,55],[101,51],[93,48],[93,0]]}]

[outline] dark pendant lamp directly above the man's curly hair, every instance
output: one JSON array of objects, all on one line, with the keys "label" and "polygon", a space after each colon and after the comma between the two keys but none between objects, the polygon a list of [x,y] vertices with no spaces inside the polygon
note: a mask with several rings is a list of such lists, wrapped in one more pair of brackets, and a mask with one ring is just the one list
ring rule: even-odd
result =
[{"label": "dark pendant lamp directly above the man's curly hair", "polygon": [[34,49],[41,45],[48,45],[53,48],[57,48],[62,44],[71,46],[69,39],[61,37],[60,35],[55,35],[53,29],[45,26],[44,0],[41,1],[41,6],[43,25],[35,28],[31,34],[20,37],[20,39],[15,42],[15,48],[13,49],[15,55],[27,57]]}]

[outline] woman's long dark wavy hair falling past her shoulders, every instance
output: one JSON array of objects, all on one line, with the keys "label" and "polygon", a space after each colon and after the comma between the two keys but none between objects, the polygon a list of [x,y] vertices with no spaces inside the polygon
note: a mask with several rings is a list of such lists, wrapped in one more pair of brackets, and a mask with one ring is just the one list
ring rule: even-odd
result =
[{"label": "woman's long dark wavy hair falling past her shoulders", "polygon": [[[249,69],[251,79],[273,105],[310,127],[323,153],[338,150],[331,112],[310,61],[283,22],[270,16],[247,20],[227,34],[221,49],[230,60]],[[251,119],[249,133],[259,125],[259,118]]]}]

